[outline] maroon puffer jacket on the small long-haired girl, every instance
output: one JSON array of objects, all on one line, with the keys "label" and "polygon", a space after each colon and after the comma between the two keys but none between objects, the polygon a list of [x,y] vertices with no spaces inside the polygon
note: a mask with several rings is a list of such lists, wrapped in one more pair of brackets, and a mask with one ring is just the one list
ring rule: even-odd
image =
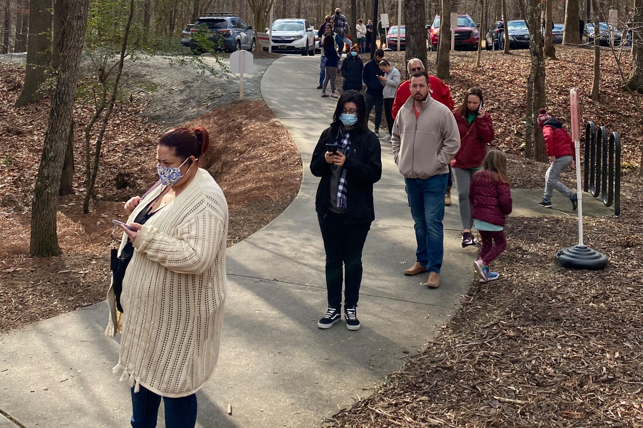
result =
[{"label": "maroon puffer jacket on the small long-haired girl", "polygon": [[509,183],[494,181],[487,170],[473,174],[469,188],[471,217],[497,226],[505,226],[505,215],[511,213]]}]

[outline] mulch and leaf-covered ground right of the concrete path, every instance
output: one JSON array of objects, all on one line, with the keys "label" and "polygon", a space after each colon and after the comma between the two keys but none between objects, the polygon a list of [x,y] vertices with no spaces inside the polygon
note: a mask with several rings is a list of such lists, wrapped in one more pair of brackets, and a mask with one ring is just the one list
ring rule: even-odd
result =
[{"label": "mulch and leaf-covered ground right of the concrete path", "polygon": [[[509,154],[512,186],[542,188],[547,165],[520,158],[529,58],[485,54],[482,69],[476,69],[473,53],[452,56],[453,98],[458,105],[469,87],[482,87],[496,127],[492,145]],[[356,397],[329,424],[643,425],[643,183],[635,175],[641,129],[606,53],[601,103],[588,99],[591,66],[584,58],[590,55],[584,49],[557,49],[562,59],[547,63],[548,107],[568,122],[568,91],[578,85],[583,121],[608,125],[624,136],[623,159],[634,168],[624,177],[622,215],[584,218],[584,242],[610,258],[607,269],[572,271],[556,265],[556,251],[577,244],[575,218],[508,218],[507,250],[493,265],[503,279],[480,284],[472,265],[469,292],[439,336],[372,396]],[[403,67],[402,61],[399,57],[397,64]],[[567,179],[575,180],[572,174]]]}]

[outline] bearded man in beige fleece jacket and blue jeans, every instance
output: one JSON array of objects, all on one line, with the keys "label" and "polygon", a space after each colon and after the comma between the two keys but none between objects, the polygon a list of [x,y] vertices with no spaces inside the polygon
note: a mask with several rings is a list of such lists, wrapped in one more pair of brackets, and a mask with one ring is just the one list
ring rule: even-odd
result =
[{"label": "bearded man in beige fleece jacket and blue jeans", "polygon": [[429,76],[424,71],[411,75],[410,87],[411,97],[395,118],[391,138],[417,240],[416,261],[404,274],[428,271],[426,285],[437,289],[444,255],[444,192],[449,162],[460,148],[460,133],[448,107],[429,96]]}]

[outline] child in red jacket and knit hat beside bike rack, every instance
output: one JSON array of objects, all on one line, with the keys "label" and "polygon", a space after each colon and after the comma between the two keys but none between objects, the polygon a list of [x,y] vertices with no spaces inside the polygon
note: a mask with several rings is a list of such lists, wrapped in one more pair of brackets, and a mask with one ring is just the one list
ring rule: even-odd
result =
[{"label": "child in red jacket and knit hat beside bike rack", "polygon": [[543,130],[547,156],[549,156],[549,161],[552,163],[545,173],[545,196],[538,205],[552,208],[552,195],[554,189],[556,189],[569,198],[570,202],[572,202],[572,210],[575,211],[578,207],[576,192],[572,192],[560,181],[563,170],[574,163],[574,141],[572,141],[569,132],[563,128],[563,123],[556,118],[552,118],[545,109],[540,109],[538,126]]}]

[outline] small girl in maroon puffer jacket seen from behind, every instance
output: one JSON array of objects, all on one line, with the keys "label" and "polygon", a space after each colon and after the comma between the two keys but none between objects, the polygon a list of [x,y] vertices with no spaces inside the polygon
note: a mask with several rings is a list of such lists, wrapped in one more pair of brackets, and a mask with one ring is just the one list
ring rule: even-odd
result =
[{"label": "small girl in maroon puffer jacket seen from behind", "polygon": [[473,226],[480,232],[482,246],[476,270],[482,281],[497,280],[500,275],[489,270],[493,262],[507,247],[505,217],[511,213],[511,190],[507,178],[507,158],[499,150],[491,150],[482,161],[482,170],[473,174],[469,188]]}]

